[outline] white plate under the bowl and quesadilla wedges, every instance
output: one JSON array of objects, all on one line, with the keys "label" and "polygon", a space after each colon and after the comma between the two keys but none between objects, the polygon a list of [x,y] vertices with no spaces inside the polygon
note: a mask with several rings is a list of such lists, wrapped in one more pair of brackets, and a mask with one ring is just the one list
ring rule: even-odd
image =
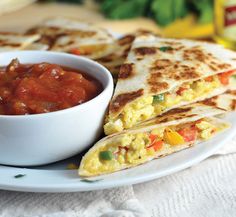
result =
[{"label": "white plate under the bowl and quesadilla wedges", "polygon": [[[77,162],[78,164],[81,157],[76,156],[43,167],[19,168],[0,166],[0,189],[29,192],[89,191],[157,179],[199,163],[232,139],[236,134],[236,113],[230,113],[224,119],[231,122],[232,127],[208,142],[153,160],[136,168],[93,178],[91,180],[98,180],[93,183],[81,181],[76,170],[65,169],[68,163]],[[14,178],[18,174],[25,174],[25,176]]]}]

